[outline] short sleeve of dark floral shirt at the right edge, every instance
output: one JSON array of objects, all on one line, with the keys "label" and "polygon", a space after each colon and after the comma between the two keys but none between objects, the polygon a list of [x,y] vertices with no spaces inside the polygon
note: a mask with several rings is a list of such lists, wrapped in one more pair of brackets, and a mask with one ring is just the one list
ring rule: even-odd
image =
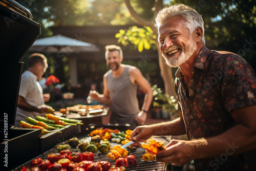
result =
[{"label": "short sleeve of dark floral shirt at the right edge", "polygon": [[223,104],[230,113],[232,109],[256,104],[256,77],[249,63],[231,54],[223,66],[221,87]]}]

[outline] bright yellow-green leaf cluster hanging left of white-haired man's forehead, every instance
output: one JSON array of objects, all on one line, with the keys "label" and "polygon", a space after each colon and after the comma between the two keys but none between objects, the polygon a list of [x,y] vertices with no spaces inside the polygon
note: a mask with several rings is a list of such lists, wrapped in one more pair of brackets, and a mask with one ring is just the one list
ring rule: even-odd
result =
[{"label": "bright yellow-green leaf cluster hanging left of white-haired man's forehead", "polygon": [[115,36],[118,38],[117,42],[121,43],[123,46],[131,42],[138,47],[139,52],[142,52],[143,49],[148,50],[156,44],[156,35],[154,35],[153,30],[147,26],[143,28],[132,26],[127,30],[121,29]]}]

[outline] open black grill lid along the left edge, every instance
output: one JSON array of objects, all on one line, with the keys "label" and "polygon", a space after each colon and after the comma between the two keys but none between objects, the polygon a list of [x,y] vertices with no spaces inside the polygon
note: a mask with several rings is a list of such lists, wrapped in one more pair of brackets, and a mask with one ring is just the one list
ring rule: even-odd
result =
[{"label": "open black grill lid along the left edge", "polygon": [[[9,2],[9,3],[8,3]],[[4,129],[4,117],[8,116],[8,126],[14,124],[23,63],[20,62],[33,42],[40,35],[40,25],[23,16],[14,1],[0,1],[0,125]]]}]

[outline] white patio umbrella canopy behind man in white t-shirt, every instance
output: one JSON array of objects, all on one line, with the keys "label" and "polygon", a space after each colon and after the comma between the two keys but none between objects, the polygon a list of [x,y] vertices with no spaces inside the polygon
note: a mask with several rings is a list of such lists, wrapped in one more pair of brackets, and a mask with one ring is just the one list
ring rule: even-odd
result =
[{"label": "white patio umbrella canopy behind man in white t-shirt", "polygon": [[35,40],[29,51],[47,53],[98,52],[96,45],[70,37],[56,35]]}]

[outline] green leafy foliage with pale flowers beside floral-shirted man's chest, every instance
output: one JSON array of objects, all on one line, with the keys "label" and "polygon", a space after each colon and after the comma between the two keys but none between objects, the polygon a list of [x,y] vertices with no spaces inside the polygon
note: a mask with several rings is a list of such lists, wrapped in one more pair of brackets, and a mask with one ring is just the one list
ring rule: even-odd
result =
[{"label": "green leafy foliage with pale flowers beside floral-shirted man's chest", "polygon": [[169,96],[162,92],[160,88],[157,87],[157,85],[152,86],[153,90],[153,106],[154,107],[160,107],[162,110],[168,110],[169,113],[175,113],[176,110],[178,110],[178,103],[174,96]]}]

